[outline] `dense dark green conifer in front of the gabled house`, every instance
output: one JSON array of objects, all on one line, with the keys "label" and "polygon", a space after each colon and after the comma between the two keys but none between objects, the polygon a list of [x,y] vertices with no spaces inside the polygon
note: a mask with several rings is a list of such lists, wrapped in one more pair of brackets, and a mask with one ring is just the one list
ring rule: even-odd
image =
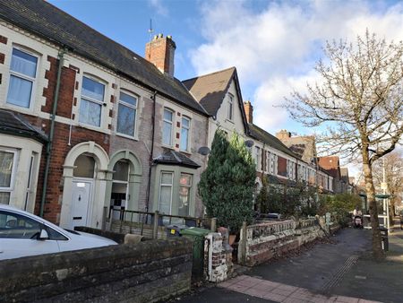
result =
[{"label": "dense dark green conifer in front of the gabled house", "polygon": [[209,217],[236,233],[243,221],[252,221],[255,165],[244,140],[217,130],[211,144],[208,167],[201,174],[199,195]]}]

